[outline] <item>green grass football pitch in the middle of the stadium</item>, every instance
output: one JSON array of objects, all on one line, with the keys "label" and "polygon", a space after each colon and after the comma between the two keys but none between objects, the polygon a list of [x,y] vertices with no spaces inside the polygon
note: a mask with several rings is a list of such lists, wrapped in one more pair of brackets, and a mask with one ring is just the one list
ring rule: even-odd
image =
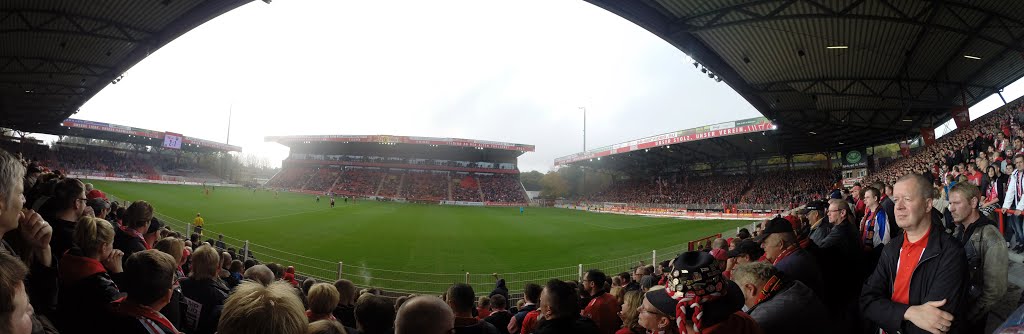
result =
[{"label": "green grass football pitch in the middle of the stadium", "polygon": [[[182,232],[196,213],[203,239],[224,235],[260,261],[295,265],[325,281],[342,277],[360,286],[409,292],[443,291],[469,280],[489,289],[499,273],[515,290],[524,282],[574,280],[583,269],[622,272],[684,251],[686,243],[735,231],[751,221],[684,220],[591,213],[558,208],[454,207],[382,203],[305,194],[91,180],[118,200],[145,200],[158,217]],[[467,273],[469,273],[467,275]]]}]

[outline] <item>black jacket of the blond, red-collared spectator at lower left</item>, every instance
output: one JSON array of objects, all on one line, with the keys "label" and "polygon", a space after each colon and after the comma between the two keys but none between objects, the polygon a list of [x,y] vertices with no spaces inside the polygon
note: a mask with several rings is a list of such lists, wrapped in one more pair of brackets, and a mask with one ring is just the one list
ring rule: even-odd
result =
[{"label": "black jacket of the blond, red-collared spectator at lower left", "polygon": [[121,297],[115,283],[121,275],[106,273],[99,261],[82,256],[77,247],[61,258],[57,276],[60,293],[56,325],[60,333],[91,333],[88,325],[103,317],[106,306]]}]

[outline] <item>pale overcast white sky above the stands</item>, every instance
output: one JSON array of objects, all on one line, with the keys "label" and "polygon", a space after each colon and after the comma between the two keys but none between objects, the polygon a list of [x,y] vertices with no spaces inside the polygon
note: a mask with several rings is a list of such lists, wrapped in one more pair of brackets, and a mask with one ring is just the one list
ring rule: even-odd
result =
[{"label": "pale overcast white sky above the stands", "polygon": [[288,150],[266,135],[527,143],[520,170],[545,172],[583,150],[581,107],[588,149],[761,116],[690,62],[578,0],[256,1],[151,54],[73,117],[223,142],[230,110],[230,143],[275,165]]}]

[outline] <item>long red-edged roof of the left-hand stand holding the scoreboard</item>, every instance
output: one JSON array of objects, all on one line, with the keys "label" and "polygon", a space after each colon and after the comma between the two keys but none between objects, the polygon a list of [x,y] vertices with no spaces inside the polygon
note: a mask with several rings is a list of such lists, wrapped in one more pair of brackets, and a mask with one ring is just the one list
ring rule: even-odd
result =
[{"label": "long red-edged roof of the left-hand stand holding the scoreboard", "polygon": [[[76,137],[105,139],[118,142],[131,142],[151,147],[163,147],[164,136],[168,132],[148,130],[126,125],[103,122],[67,119],[60,127],[50,129],[45,133],[55,135],[71,135]],[[180,135],[170,132],[173,135]],[[242,148],[212,140],[181,136],[181,150],[193,152],[242,152]]]}]

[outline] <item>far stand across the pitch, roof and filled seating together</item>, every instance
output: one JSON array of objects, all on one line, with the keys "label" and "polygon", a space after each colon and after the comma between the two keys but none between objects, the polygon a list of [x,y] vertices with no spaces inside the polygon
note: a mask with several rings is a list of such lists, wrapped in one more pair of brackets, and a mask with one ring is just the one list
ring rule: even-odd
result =
[{"label": "far stand across the pitch, roof and filled seating together", "polygon": [[268,136],[290,149],[267,186],[417,203],[528,201],[517,159],[534,145],[396,135]]}]

